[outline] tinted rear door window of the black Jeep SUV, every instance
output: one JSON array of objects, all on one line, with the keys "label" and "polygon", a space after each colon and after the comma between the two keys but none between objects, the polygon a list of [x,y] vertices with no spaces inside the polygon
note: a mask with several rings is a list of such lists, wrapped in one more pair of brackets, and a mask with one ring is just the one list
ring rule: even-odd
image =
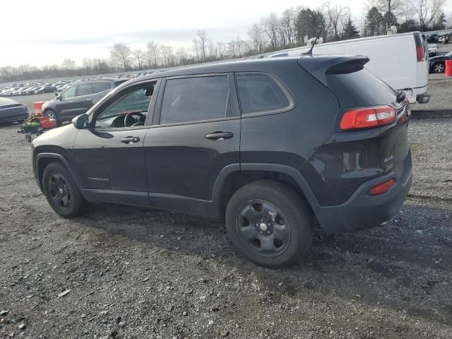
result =
[{"label": "tinted rear door window of the black Jeep SUV", "polygon": [[175,124],[227,116],[227,76],[170,79],[165,85],[160,124]]}]

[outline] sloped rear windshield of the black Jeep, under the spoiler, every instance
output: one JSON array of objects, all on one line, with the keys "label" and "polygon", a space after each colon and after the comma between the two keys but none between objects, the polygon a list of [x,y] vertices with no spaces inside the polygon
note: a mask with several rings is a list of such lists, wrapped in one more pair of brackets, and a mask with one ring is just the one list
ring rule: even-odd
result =
[{"label": "sloped rear windshield of the black Jeep, under the spoiler", "polygon": [[396,91],[361,64],[335,66],[326,74],[328,88],[343,108],[391,105]]}]

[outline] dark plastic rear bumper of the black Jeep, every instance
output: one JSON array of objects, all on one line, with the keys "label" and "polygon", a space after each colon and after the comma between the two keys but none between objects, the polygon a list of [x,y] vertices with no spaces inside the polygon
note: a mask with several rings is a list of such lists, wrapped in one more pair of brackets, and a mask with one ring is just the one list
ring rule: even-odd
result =
[{"label": "dark plastic rear bumper of the black Jeep", "polygon": [[[405,201],[410,192],[412,180],[411,155],[405,159],[405,172],[398,179],[394,172],[365,182],[340,206],[320,206],[316,217],[323,230],[330,233],[355,232],[375,227],[390,220]],[[389,191],[379,196],[369,196],[368,192],[376,184],[394,179]]]}]

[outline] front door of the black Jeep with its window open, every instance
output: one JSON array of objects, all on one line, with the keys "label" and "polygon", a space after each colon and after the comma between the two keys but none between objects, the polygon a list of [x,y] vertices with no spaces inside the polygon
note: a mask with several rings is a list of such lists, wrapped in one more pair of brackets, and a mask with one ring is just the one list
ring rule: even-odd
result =
[{"label": "front door of the black Jeep with its window open", "polygon": [[78,131],[73,155],[89,200],[149,204],[143,141],[150,98],[145,86],[123,88],[93,112],[90,128]]}]

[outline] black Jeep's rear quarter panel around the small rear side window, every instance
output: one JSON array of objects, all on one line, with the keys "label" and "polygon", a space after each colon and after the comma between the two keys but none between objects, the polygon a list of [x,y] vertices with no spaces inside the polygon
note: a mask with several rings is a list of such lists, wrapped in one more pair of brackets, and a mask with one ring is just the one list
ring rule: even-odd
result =
[{"label": "black Jeep's rear quarter panel around the small rear side window", "polygon": [[242,114],[241,162],[287,165],[300,171],[333,133],[338,101],[296,59],[276,66],[261,73],[282,86],[294,105],[286,112]]}]

